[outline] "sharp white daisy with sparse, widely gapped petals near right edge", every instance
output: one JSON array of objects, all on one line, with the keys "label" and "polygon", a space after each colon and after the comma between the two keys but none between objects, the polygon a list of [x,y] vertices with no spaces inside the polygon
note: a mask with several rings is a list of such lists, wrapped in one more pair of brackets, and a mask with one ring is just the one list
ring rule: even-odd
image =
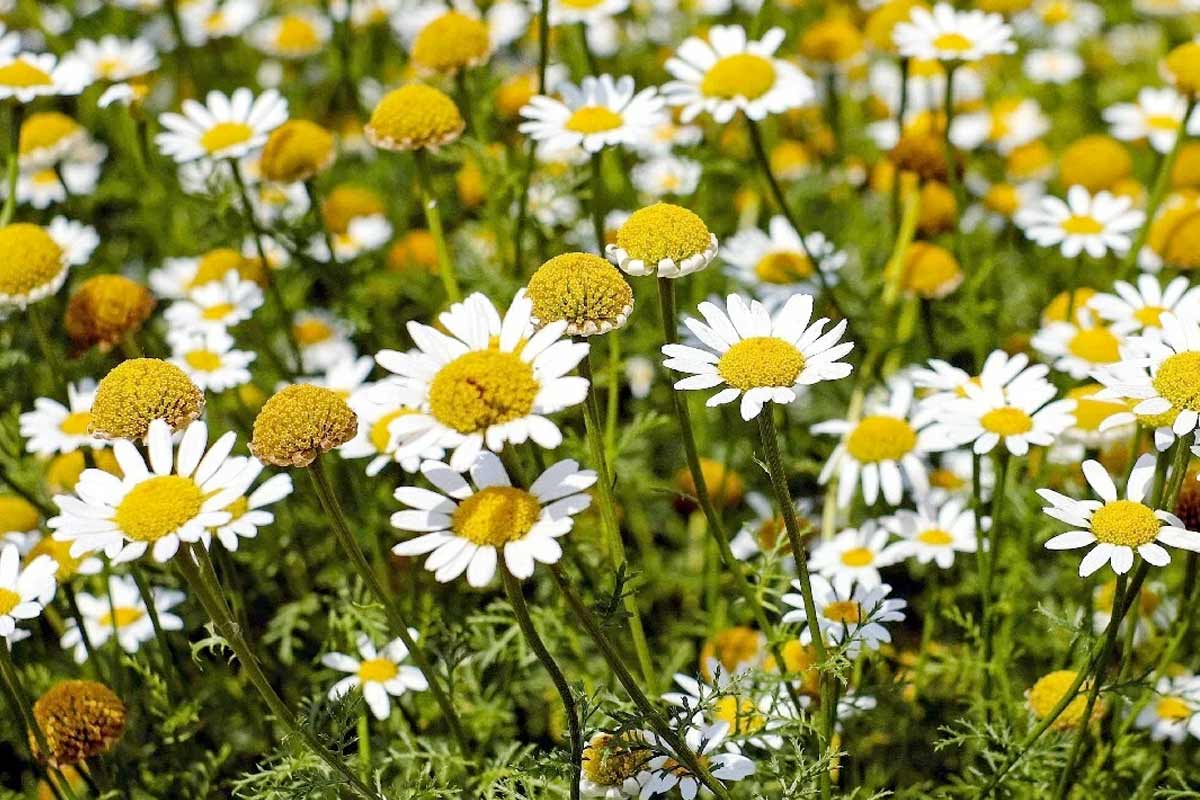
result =
[{"label": "sharp white daisy with sparse, widely gapped petals near right edge", "polygon": [[1144,455],[1134,464],[1123,499],[1117,498],[1116,486],[1099,462],[1085,461],[1084,475],[1100,500],[1073,500],[1054,489],[1038,489],[1050,504],[1042,511],[1074,529],[1052,537],[1046,549],[1091,548],[1079,564],[1080,577],[1105,564],[1124,575],[1133,566],[1134,552],[1148,564],[1166,566],[1171,557],[1163,545],[1200,552],[1200,536],[1183,528],[1178,517],[1142,503],[1154,477],[1153,456]]}]

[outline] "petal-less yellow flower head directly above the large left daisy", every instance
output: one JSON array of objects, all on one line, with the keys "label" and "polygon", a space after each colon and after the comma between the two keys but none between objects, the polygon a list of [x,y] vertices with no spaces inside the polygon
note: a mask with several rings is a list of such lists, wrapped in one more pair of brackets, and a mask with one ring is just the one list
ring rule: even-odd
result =
[{"label": "petal-less yellow flower head directly above the large left daisy", "polygon": [[143,439],[154,420],[178,431],[204,410],[204,393],[187,374],[161,359],[130,359],[96,387],[88,433],[103,439]]}]

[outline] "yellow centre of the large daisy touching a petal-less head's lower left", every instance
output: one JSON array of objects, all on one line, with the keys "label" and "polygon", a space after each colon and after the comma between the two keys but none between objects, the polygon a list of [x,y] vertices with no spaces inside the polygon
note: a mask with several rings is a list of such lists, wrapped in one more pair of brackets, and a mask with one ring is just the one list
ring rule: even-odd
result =
[{"label": "yellow centre of the large daisy touching a petal-less head's lower left", "polygon": [[433,377],[430,411],[458,433],[476,433],[528,415],[539,389],[533,367],[520,356],[473,350]]}]

